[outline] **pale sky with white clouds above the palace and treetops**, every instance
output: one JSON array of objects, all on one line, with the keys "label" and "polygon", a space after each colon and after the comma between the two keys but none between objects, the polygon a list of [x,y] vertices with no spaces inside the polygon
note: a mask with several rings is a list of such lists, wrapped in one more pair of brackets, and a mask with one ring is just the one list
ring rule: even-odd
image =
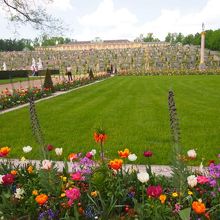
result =
[{"label": "pale sky with white clouds above the palace and treetops", "polygon": [[[164,40],[167,33],[195,34],[220,28],[220,0],[54,0],[50,14],[61,18],[68,31],[64,37],[80,40],[128,39],[140,34]],[[14,31],[0,10],[0,39],[39,37],[26,25]]]}]

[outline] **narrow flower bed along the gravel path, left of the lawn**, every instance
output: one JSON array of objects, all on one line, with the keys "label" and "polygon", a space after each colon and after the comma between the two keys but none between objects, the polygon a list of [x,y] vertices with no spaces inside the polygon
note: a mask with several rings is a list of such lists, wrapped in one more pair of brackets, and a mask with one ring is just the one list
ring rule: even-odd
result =
[{"label": "narrow flower bed along the gravel path, left of the lawn", "polygon": [[[79,78],[74,81],[57,80],[54,89],[56,91],[67,91],[82,85],[92,83],[96,80],[106,78],[106,74],[95,76],[93,79],[88,77]],[[17,105],[25,104],[29,102],[30,96],[33,96],[35,100],[52,95],[52,91],[49,88],[33,87],[33,88],[20,88],[14,91],[9,91],[7,88],[0,93],[0,111],[8,108],[15,107]]]}]

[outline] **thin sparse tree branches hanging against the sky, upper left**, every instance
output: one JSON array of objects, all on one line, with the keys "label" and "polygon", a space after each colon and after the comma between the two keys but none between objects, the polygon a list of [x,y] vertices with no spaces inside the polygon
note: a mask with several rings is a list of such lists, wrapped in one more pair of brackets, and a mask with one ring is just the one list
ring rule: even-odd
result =
[{"label": "thin sparse tree branches hanging against the sky, upper left", "polygon": [[16,25],[28,23],[36,30],[59,33],[63,30],[61,20],[48,14],[45,8],[52,2],[53,0],[0,0],[0,7]]}]

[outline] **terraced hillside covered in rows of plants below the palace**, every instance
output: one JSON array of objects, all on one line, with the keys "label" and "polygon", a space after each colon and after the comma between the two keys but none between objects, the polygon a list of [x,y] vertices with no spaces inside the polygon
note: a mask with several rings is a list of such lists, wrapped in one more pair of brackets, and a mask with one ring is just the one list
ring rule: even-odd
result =
[{"label": "terraced hillside covered in rows of plants below the palace", "polygon": [[[163,69],[197,69],[200,59],[200,48],[195,46],[159,45],[148,47],[90,49],[90,50],[37,50],[25,52],[1,52],[0,64],[6,63],[8,69],[30,69],[32,58],[41,58],[43,67],[61,69],[71,65],[76,74],[87,73],[89,68],[94,72],[109,69],[118,72],[144,73]],[[220,67],[219,55],[205,51],[205,64],[208,68]]]}]

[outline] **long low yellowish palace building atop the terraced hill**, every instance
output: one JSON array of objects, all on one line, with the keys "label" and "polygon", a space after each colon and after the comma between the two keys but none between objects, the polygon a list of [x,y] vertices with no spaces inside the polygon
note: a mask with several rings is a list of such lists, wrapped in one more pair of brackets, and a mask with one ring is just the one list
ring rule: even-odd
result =
[{"label": "long low yellowish palace building atop the terraced hill", "polygon": [[105,50],[105,49],[126,49],[126,48],[148,48],[152,46],[168,46],[167,42],[132,42],[129,40],[104,40],[100,42],[94,41],[76,41],[69,44],[58,44],[49,47],[37,47],[35,50]]}]

